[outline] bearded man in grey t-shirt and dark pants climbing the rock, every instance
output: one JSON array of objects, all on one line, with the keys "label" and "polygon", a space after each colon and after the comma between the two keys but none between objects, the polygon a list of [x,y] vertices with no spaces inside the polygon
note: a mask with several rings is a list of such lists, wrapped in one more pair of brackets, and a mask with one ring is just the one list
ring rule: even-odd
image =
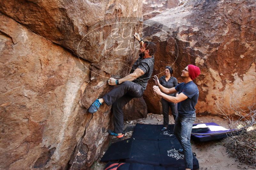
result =
[{"label": "bearded man in grey t-shirt and dark pants climbing the rock", "polygon": [[108,84],[118,86],[102,98],[96,99],[89,107],[89,113],[95,113],[103,103],[106,103],[108,106],[112,105],[114,131],[109,130],[108,133],[120,139],[124,136],[122,108],[132,98],[143,96],[154,67],[153,55],[156,52],[156,45],[153,42],[144,41],[138,33],[135,33],[134,37],[140,43],[140,54],[133,64],[130,74],[119,80],[110,78]]}]

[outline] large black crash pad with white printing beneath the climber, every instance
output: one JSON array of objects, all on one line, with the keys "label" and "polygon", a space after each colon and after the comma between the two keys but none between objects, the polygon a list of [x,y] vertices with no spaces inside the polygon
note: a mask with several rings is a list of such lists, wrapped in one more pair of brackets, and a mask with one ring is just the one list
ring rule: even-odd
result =
[{"label": "large black crash pad with white printing beneath the climber", "polygon": [[[166,132],[160,131],[162,127],[163,125],[136,124],[132,138],[113,143],[101,161],[122,160],[130,163],[129,170],[132,166],[145,166],[144,169],[149,168],[147,166],[164,167],[166,170],[184,169],[184,155],[178,153],[182,147],[173,134],[174,125],[170,125],[170,131]],[[121,166],[118,170],[120,168]],[[198,160],[193,156],[193,169],[198,168]]]}]

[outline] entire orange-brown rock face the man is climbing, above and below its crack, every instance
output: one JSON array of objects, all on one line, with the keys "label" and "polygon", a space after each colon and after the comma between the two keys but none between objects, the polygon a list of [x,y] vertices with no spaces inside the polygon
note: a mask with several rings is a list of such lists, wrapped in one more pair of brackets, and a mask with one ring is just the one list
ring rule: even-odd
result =
[{"label": "entire orange-brown rock face the man is climbing, above and below its crack", "polygon": [[88,169],[112,113],[87,109],[138,57],[142,1],[12,0],[0,12],[0,168]]}]

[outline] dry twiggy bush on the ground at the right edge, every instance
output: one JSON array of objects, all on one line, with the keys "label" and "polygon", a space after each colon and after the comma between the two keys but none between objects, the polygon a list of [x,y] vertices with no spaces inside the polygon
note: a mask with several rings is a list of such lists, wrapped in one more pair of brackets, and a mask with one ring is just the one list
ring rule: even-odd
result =
[{"label": "dry twiggy bush on the ground at the right edge", "polygon": [[240,116],[238,120],[230,116],[229,109],[226,113],[216,103],[220,110],[219,113],[227,119],[229,128],[233,132],[239,132],[238,135],[231,133],[230,137],[223,140],[223,145],[227,147],[230,156],[256,167],[256,104],[254,102],[247,107],[248,110],[242,110],[235,108],[235,105],[231,103],[230,100],[230,109]]}]

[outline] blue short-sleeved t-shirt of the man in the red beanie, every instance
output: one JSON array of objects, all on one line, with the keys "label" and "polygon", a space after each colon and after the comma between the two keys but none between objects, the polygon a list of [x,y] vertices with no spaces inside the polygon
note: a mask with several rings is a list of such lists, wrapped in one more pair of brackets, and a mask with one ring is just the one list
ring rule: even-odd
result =
[{"label": "blue short-sleeved t-shirt of the man in the red beanie", "polygon": [[188,96],[186,100],[178,103],[178,112],[180,115],[189,116],[195,113],[195,106],[198,101],[199,90],[197,85],[190,81],[188,83],[180,83],[175,87],[175,90]]}]

